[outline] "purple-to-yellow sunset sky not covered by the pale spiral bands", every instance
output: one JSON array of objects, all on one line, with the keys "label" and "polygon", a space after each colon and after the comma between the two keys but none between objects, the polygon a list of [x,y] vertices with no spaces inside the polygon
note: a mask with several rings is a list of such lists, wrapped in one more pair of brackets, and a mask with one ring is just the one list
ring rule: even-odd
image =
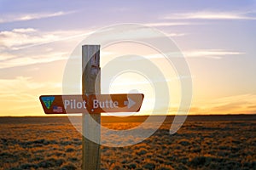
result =
[{"label": "purple-to-yellow sunset sky not covered by the pale spiral bands", "polygon": [[[63,94],[67,59],[79,42],[125,23],[150,26],[177,44],[193,81],[189,114],[256,113],[255,0],[0,0],[0,116],[44,116],[38,97]],[[154,55],[123,42],[102,49],[102,67],[125,54]],[[161,59],[151,61],[167,77],[168,110],[176,114],[181,77]],[[147,114],[158,99],[145,77],[122,74],[109,91],[133,89],[147,94],[139,113]]]}]

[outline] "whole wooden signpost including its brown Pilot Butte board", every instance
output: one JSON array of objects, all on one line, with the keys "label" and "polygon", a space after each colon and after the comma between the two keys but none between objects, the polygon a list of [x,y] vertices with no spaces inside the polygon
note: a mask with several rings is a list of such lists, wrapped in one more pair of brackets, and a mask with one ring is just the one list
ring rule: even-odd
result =
[{"label": "whole wooden signpost including its brown Pilot Butte board", "polygon": [[[101,94],[100,46],[82,47],[82,95],[42,95],[46,114],[83,113],[82,169],[101,167],[101,113],[137,112],[144,94]],[[94,141],[94,142],[93,142]]]}]

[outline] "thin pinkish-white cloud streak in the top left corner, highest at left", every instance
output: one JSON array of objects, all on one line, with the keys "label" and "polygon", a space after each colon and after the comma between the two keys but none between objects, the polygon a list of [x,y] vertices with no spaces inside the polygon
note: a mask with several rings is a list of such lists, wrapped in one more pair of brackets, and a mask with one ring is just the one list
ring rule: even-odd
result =
[{"label": "thin pinkish-white cloud streak in the top left corner, highest at left", "polygon": [[62,16],[67,14],[73,14],[74,11],[58,11],[54,13],[32,13],[32,14],[9,14],[9,15],[2,15],[0,18],[1,23],[8,23],[8,22],[15,22],[15,21],[26,21],[26,20],[39,20],[44,18],[51,18],[56,16]]}]

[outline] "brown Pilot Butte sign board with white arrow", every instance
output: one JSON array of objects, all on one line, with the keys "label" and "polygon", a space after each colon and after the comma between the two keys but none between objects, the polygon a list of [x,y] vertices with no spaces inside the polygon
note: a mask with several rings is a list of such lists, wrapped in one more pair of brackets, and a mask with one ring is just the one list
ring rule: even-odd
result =
[{"label": "brown Pilot Butte sign board with white arrow", "polygon": [[144,94],[42,95],[46,114],[137,112]]}]

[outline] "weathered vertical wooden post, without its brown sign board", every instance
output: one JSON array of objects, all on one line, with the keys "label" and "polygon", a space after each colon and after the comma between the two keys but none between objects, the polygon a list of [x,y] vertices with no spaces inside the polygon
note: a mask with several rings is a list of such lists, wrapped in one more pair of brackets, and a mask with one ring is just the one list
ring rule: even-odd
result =
[{"label": "weathered vertical wooden post, without its brown sign board", "polygon": [[[82,47],[82,88],[83,94],[101,94],[100,45],[84,45]],[[99,74],[99,75],[98,75]],[[96,78],[97,77],[97,78]],[[90,112],[90,111],[89,111]],[[83,157],[82,169],[95,170],[101,167],[101,113],[83,113]],[[89,137],[89,139],[84,136]],[[90,141],[94,139],[97,142]]]}]

